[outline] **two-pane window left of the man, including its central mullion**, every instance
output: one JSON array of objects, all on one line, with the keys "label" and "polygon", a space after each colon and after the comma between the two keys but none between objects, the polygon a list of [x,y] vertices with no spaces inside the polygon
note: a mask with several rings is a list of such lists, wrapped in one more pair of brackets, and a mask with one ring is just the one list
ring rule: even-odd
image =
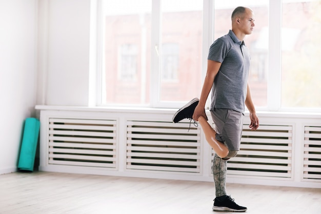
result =
[{"label": "two-pane window left of the man, including its central mullion", "polygon": [[178,107],[199,95],[202,2],[102,0],[102,6],[101,105]]}]

